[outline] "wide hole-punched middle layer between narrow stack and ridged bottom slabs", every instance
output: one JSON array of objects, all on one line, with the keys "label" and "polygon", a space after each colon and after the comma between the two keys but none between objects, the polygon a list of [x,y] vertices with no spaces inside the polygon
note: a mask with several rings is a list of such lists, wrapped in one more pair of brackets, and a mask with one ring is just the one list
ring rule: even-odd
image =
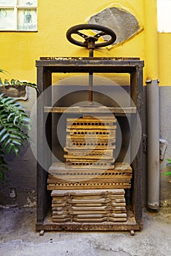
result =
[{"label": "wide hole-punched middle layer between narrow stack and ridged bottom slabs", "polygon": [[62,163],[49,168],[47,190],[67,189],[130,189],[132,167],[115,162],[115,169],[73,169]]}]

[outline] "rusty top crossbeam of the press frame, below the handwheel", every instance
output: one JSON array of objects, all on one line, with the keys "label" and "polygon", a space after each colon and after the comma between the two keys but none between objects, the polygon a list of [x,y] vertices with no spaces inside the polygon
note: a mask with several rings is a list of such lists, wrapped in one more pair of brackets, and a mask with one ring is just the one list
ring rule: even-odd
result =
[{"label": "rusty top crossbeam of the press frame, below the handwheel", "polygon": [[50,72],[132,73],[144,62],[134,58],[46,57],[37,61],[37,67],[42,66]]}]

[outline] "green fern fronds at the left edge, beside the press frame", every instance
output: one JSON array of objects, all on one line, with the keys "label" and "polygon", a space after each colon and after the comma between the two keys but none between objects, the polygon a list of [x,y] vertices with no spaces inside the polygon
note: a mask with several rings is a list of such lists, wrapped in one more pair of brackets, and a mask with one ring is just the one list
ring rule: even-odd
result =
[{"label": "green fern fronds at the left edge, beside the press frame", "polygon": [[[12,83],[18,83],[18,81],[13,80]],[[29,118],[19,102],[0,94],[0,182],[4,181],[4,174],[8,170],[4,151],[7,154],[13,151],[15,156],[18,156],[24,140],[29,141],[26,133],[28,122]]]}]

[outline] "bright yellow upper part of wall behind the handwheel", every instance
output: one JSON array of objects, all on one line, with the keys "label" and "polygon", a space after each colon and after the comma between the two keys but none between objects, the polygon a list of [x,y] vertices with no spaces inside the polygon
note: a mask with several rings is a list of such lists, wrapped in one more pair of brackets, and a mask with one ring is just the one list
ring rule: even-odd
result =
[{"label": "bright yellow upper part of wall behind the handwheel", "polygon": [[[145,27],[144,0],[38,0],[37,32],[0,32],[0,68],[9,72],[9,78],[35,83],[37,76],[35,60],[40,56],[88,56],[88,50],[67,41],[65,35],[67,29],[85,23],[88,17],[116,2],[127,7]],[[166,64],[170,64],[167,53],[171,46],[167,40],[170,42],[170,34],[159,34],[160,85],[171,85],[171,78],[164,69],[166,59]],[[94,56],[140,57],[145,60],[145,29],[123,45],[110,50],[107,48],[96,50]],[[145,69],[144,74],[146,78]]]}]

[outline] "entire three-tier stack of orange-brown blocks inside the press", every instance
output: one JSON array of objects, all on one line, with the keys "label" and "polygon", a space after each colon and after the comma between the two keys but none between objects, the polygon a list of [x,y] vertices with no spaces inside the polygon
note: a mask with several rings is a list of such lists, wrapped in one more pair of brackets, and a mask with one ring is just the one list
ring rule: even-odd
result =
[{"label": "entire three-tier stack of orange-brown blocks inside the press", "polygon": [[113,158],[115,117],[67,118],[66,132],[66,162],[53,163],[47,179],[53,222],[126,222],[132,168]]}]

